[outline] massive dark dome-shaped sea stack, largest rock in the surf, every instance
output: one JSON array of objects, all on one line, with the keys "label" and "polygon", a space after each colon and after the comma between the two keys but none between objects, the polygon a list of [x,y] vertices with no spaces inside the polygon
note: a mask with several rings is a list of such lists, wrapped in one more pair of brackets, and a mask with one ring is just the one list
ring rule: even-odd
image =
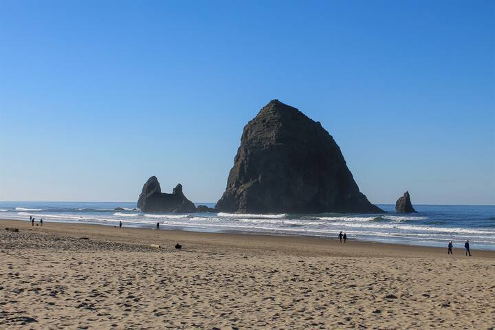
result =
[{"label": "massive dark dome-shaped sea stack, largest rock in the surf", "polygon": [[355,183],[320,122],[278,100],[244,127],[217,210],[252,213],[384,212]]}]

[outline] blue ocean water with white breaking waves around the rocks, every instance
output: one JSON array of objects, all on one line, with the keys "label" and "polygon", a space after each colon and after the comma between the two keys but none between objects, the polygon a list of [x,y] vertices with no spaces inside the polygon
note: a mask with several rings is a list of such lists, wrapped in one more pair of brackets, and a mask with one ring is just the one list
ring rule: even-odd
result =
[{"label": "blue ocean water with white breaking waves around the rocks", "polygon": [[[212,203],[202,203],[213,207]],[[197,203],[197,205],[199,205]],[[226,212],[171,214],[133,210],[135,203],[107,202],[1,202],[0,219],[47,222],[98,223],[126,227],[206,232],[248,232],[336,238],[346,232],[350,240],[495,250],[495,206],[415,205],[417,213],[396,214],[394,205],[379,205],[386,214],[235,214]],[[116,211],[115,208],[124,208]]]}]

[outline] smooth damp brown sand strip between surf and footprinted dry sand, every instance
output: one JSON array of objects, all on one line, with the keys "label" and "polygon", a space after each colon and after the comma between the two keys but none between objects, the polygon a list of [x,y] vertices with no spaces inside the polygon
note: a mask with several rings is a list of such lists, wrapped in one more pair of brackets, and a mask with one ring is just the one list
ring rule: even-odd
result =
[{"label": "smooth damp brown sand strip between surf and footprinted dry sand", "polygon": [[[156,244],[160,242],[170,241],[172,239],[182,241],[194,241],[201,239],[202,241],[237,241],[239,243],[256,242],[259,244],[281,244],[282,246],[292,246],[294,249],[300,249],[299,252],[307,250],[305,245],[312,248],[320,248],[320,252],[312,251],[315,254],[332,255],[331,248],[339,248],[338,253],[351,254],[352,256],[360,256],[356,249],[366,249],[366,255],[370,253],[377,256],[445,256],[448,257],[447,248],[438,248],[423,245],[408,245],[399,243],[382,243],[375,241],[366,241],[363,239],[348,239],[347,243],[339,243],[337,238],[329,238],[325,236],[305,236],[305,235],[289,235],[289,234],[259,234],[252,232],[199,232],[192,230],[169,230],[161,229],[154,230],[151,228],[133,228],[123,227],[116,228],[115,225],[101,225],[98,223],[63,223],[63,222],[47,222],[44,221],[43,227],[32,226],[29,221],[0,219],[0,230],[5,228],[18,228],[19,230],[38,230],[40,232],[55,232],[63,236],[80,236],[84,234],[92,238],[99,239],[115,239],[119,243],[135,243],[135,244]],[[151,236],[153,234],[153,236]],[[158,244],[161,245],[161,244]],[[346,249],[347,248],[347,249]],[[456,256],[465,256],[463,248],[453,249]],[[493,250],[471,250],[474,254],[471,258],[493,258],[495,259],[495,251]]]}]

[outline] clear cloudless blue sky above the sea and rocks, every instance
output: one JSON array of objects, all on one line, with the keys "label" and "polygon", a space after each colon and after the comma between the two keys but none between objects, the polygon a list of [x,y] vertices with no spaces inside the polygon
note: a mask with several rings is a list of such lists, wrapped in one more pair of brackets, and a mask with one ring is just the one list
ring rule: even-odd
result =
[{"label": "clear cloudless blue sky above the sea and rocks", "polygon": [[373,203],[495,203],[495,1],[0,0],[0,200],[215,202],[274,98]]}]

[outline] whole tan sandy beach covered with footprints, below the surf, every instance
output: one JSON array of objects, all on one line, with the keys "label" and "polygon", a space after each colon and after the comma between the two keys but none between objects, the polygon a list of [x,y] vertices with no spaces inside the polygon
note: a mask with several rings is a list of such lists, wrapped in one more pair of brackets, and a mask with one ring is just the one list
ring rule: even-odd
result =
[{"label": "whole tan sandy beach covered with footprints, below the surf", "polygon": [[472,254],[1,220],[0,329],[495,329],[495,252]]}]

